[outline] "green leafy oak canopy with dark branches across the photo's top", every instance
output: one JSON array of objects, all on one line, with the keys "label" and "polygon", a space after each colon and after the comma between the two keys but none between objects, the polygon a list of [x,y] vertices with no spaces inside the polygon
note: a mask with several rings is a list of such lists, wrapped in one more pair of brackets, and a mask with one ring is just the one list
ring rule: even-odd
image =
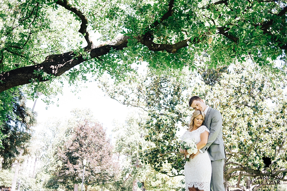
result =
[{"label": "green leafy oak canopy with dark branches across the photo's top", "polygon": [[[0,91],[108,71],[119,79],[132,63],[195,67],[252,59],[285,60],[286,1],[275,0],[3,0],[0,9]],[[100,34],[101,45],[92,40]],[[75,68],[75,66],[77,66]],[[66,72],[68,71],[68,72]]]}]

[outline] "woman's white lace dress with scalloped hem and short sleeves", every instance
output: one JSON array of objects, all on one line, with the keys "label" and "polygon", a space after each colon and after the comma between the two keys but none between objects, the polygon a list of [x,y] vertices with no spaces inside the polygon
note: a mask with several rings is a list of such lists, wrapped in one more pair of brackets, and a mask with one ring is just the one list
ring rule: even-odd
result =
[{"label": "woman's white lace dress with scalloped hem and short sleeves", "polygon": [[[192,132],[186,131],[183,138],[194,139],[195,143],[200,142],[200,134],[207,131],[210,133],[206,126],[200,126]],[[210,191],[210,179],[211,179],[211,161],[207,152],[199,153],[195,158],[185,162],[184,174],[185,174],[185,190],[188,188],[198,188],[199,190]]]}]

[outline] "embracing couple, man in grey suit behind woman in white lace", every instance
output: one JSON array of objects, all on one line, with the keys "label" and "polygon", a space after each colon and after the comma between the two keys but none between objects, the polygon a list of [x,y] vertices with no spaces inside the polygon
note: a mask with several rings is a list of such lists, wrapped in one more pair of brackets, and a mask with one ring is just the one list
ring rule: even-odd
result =
[{"label": "embracing couple, man in grey suit behind woman in white lace", "polygon": [[[195,111],[191,116],[189,129],[181,140],[194,139],[198,150],[185,163],[185,190],[224,191],[223,166],[226,155],[221,114],[205,105],[198,96],[190,98],[189,106]],[[187,150],[181,148],[180,152],[188,154]]]}]

